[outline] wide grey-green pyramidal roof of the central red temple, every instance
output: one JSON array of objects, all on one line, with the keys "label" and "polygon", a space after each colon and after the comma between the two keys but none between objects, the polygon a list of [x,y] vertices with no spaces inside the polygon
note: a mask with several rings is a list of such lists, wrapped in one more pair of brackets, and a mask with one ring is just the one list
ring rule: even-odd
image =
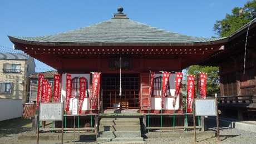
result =
[{"label": "wide grey-green pyramidal roof of the central red temple", "polygon": [[223,39],[186,36],[150,27],[128,18],[111,18],[88,27],[51,36],[14,38],[49,43],[198,43]]}]

